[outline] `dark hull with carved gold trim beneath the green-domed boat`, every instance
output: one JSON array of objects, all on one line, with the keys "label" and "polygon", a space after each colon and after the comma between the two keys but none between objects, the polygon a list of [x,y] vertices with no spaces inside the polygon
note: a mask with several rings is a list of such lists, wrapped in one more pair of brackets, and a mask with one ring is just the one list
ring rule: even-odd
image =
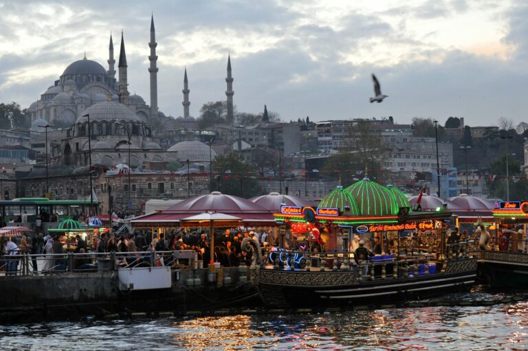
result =
[{"label": "dark hull with carved gold trim beneath the green-domed boat", "polygon": [[270,307],[391,304],[469,289],[476,281],[476,258],[448,261],[430,275],[360,281],[353,271],[261,269],[257,284]]}]

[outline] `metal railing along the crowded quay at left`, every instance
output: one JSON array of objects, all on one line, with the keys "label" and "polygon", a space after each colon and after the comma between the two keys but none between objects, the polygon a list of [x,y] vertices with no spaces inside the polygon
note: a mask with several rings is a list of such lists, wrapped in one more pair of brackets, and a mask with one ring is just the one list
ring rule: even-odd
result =
[{"label": "metal railing along the crowded quay at left", "polygon": [[[111,253],[45,253],[0,256],[0,275],[47,275],[113,271],[118,267],[190,268],[193,260],[179,258],[181,251],[139,251]],[[181,256],[181,255],[180,255]]]}]

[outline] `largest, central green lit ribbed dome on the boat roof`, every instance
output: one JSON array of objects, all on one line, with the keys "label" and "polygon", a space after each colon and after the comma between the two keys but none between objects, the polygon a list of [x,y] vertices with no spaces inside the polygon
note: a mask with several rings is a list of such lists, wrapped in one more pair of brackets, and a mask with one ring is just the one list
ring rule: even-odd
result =
[{"label": "largest, central green lit ribbed dome on the boat roof", "polygon": [[361,216],[395,216],[398,214],[393,193],[383,185],[364,178],[347,188],[358,203]]}]

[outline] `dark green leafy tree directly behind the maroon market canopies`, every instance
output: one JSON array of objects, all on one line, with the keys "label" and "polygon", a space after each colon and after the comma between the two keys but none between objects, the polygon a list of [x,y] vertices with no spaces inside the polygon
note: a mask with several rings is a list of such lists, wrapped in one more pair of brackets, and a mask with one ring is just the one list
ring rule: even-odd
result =
[{"label": "dark green leafy tree directly behind the maroon market canopies", "polygon": [[217,156],[214,159],[214,168],[218,170],[217,184],[220,186],[217,185],[217,188],[222,194],[248,199],[262,193],[257,181],[257,172],[252,165],[245,163],[238,153]]}]

